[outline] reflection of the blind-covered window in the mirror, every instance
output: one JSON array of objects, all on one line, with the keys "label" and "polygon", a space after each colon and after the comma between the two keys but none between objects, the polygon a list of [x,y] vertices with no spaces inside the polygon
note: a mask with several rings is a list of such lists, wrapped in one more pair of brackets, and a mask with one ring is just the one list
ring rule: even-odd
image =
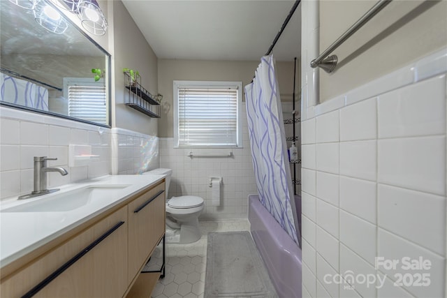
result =
[{"label": "reflection of the blind-covered window in the mirror", "polygon": [[103,79],[71,77],[64,79],[68,116],[108,125],[107,96]]}]

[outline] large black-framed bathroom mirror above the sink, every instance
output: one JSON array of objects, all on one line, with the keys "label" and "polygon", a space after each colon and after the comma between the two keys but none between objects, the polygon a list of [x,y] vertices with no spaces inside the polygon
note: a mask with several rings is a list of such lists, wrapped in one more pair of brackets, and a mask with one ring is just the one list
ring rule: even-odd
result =
[{"label": "large black-framed bathroom mirror above the sink", "polygon": [[49,27],[39,13],[57,6],[34,3],[0,1],[0,105],[110,127],[110,54],[63,13]]}]

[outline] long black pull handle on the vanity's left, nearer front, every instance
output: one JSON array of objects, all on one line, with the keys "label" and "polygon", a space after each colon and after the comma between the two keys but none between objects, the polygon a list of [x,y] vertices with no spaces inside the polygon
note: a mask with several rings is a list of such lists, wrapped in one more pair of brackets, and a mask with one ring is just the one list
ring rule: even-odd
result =
[{"label": "long black pull handle on the vanity's left, nearer front", "polygon": [[57,278],[57,276],[59,276],[62,272],[64,272],[66,269],[68,269],[71,265],[73,265],[76,261],[78,261],[80,258],[82,258],[82,256],[84,256],[86,253],[88,253],[89,251],[91,251],[92,248],[94,248],[96,245],[98,245],[101,241],[103,241],[105,238],[107,238],[110,234],[112,234],[112,232],[115,232],[115,230],[117,230],[117,228],[121,227],[124,224],[124,221],[120,221],[119,223],[117,223],[116,225],[114,225],[112,228],[110,228],[110,230],[108,230],[107,232],[105,232],[104,234],[102,234],[100,237],[98,237],[98,239],[96,239],[95,241],[91,242],[91,244],[89,244],[89,246],[87,246],[86,248],[84,248],[82,251],[80,251],[80,253],[78,253],[77,255],[75,255],[73,258],[71,258],[70,260],[68,260],[68,262],[66,262],[64,265],[62,265],[61,267],[59,267],[56,271],[54,271],[52,274],[50,274],[49,276],[47,276],[47,278],[45,278],[43,281],[41,281],[41,283],[38,283],[38,285],[36,285],[34,288],[32,288],[31,290],[29,290],[29,292],[27,292],[27,294],[23,295],[22,298],[28,298],[28,297],[33,297],[34,295],[37,294],[37,292],[39,292],[40,290],[42,290],[43,288],[45,288],[45,285],[47,285],[48,283],[51,283],[51,281],[54,278]]}]

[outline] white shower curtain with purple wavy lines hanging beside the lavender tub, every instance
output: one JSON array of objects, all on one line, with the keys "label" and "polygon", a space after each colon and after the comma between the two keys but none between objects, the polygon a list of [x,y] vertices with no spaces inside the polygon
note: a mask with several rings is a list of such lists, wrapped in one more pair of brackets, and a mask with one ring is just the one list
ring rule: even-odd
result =
[{"label": "white shower curtain with purple wavy lines hanging beside the lavender tub", "polygon": [[281,99],[272,56],[261,59],[256,77],[245,86],[245,99],[259,200],[300,245]]}]

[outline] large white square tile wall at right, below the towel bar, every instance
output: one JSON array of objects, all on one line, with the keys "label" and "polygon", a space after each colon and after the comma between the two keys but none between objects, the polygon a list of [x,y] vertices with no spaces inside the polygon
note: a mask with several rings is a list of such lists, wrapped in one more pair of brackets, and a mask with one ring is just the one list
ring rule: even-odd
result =
[{"label": "large white square tile wall at right, below the towel bar", "polygon": [[[305,107],[303,297],[445,297],[446,73],[443,49],[386,84]],[[407,269],[404,257],[430,260],[430,269]],[[337,274],[345,279],[334,282]],[[416,286],[418,274],[430,285]]]}]

